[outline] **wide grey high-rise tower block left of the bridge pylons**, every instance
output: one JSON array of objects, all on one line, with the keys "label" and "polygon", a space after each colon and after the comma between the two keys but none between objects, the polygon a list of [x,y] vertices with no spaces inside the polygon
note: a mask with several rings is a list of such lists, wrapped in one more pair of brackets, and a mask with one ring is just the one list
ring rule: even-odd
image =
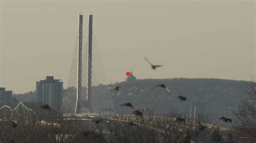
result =
[{"label": "wide grey high-rise tower block left of the bridge pylons", "polygon": [[63,104],[63,82],[53,76],[36,82],[36,104],[48,104],[52,109],[60,111]]}]

